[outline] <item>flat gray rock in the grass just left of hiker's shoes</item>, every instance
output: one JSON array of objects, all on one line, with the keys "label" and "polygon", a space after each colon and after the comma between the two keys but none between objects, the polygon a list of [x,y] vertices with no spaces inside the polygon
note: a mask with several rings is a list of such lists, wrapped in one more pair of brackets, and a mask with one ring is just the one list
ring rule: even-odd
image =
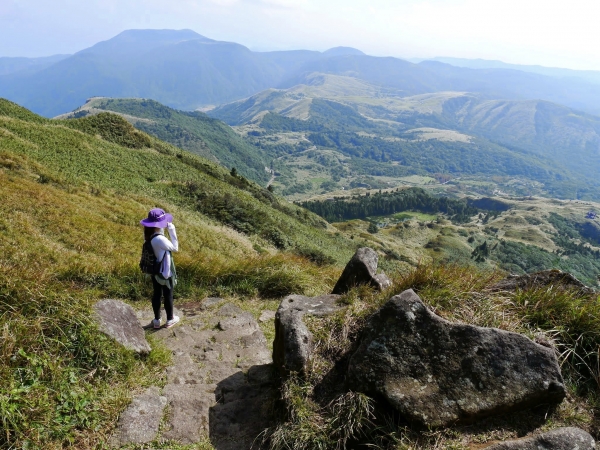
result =
[{"label": "flat gray rock in the grass just left of hiker's shoes", "polygon": [[150,353],[150,344],[131,306],[119,300],[100,300],[94,310],[100,331],[140,355]]}]

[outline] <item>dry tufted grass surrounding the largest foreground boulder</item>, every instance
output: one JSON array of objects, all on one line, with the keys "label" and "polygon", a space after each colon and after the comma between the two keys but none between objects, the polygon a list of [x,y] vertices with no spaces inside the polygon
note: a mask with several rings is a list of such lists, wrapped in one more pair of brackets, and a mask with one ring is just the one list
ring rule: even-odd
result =
[{"label": "dry tufted grass surrounding the largest foreground boulder", "polygon": [[[271,430],[272,449],[354,448],[361,443],[380,449],[476,449],[525,434],[577,426],[596,434],[600,424],[598,348],[600,302],[575,292],[544,290],[491,292],[503,277],[498,271],[442,265],[420,265],[394,277],[394,287],[377,293],[358,288],[342,298],[347,308],[324,318],[307,318],[315,338],[315,354],[305,378],[284,385],[287,420]],[[411,429],[383,403],[364,399],[354,404],[349,423],[361,423],[360,432],[340,446],[327,441],[329,426],[339,413],[332,404],[349,395],[343,382],[345,361],[352,353],[365,320],[384,302],[405,289],[413,289],[438,315],[453,322],[496,327],[550,340],[557,348],[567,399],[556,409],[533,409],[489,418],[474,425],[419,431]],[[295,439],[294,436],[304,436]],[[312,436],[313,447],[306,436]],[[293,443],[293,444],[292,444]],[[287,446],[286,446],[287,445]]]}]

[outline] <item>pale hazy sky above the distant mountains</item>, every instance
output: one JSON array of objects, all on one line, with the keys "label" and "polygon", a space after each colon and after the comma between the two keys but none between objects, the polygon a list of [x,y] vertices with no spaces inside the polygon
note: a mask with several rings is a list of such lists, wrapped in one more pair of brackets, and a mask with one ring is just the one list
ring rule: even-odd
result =
[{"label": "pale hazy sky above the distant mountains", "polygon": [[599,0],[0,0],[0,56],[75,53],[133,28],[252,50],[358,48],[600,70]]}]

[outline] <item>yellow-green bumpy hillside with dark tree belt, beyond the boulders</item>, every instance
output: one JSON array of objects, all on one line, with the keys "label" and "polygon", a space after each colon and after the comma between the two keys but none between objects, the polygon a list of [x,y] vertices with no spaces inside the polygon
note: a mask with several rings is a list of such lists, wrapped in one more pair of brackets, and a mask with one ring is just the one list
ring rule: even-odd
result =
[{"label": "yellow-green bumpy hillside with dark tree belt, beyond the boulders", "polygon": [[[561,269],[600,285],[600,204],[544,198],[433,197],[421,188],[302,202],[388,257],[525,274]],[[488,208],[481,210],[479,208]]]}]

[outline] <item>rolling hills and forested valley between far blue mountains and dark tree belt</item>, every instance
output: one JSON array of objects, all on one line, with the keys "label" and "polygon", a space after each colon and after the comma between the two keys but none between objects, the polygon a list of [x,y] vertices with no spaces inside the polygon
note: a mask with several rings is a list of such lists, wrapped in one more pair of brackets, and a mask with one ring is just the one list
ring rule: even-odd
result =
[{"label": "rolling hills and forested valley between far blue mountains and dark tree belt", "polygon": [[463,92],[411,97],[313,73],[210,111],[274,156],[274,183],[295,200],[356,187],[461,179],[463,194],[600,198],[600,119],[541,101]]}]

